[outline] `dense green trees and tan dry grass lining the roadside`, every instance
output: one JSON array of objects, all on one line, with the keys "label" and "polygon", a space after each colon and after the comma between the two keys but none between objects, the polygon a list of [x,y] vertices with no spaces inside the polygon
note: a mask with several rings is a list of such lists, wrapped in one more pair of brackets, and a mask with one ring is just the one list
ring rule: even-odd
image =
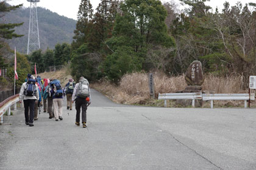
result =
[{"label": "dense green trees and tan dry grass lining the roadside", "polygon": [[[187,6],[180,11],[172,0],[101,0],[94,11],[90,0],[81,0],[73,43],[17,56],[17,63],[23,62],[16,83],[21,85],[27,72],[34,74],[35,63],[38,73],[70,64],[76,82],[86,77],[113,101],[161,105],[149,98],[148,73],[154,73],[156,97],[173,93],[184,90],[183,75],[199,60],[205,92],[247,93],[249,76],[256,75],[256,4],[224,2],[218,11],[207,1],[180,0]],[[10,70],[9,86],[13,63],[0,58],[0,67]]]}]

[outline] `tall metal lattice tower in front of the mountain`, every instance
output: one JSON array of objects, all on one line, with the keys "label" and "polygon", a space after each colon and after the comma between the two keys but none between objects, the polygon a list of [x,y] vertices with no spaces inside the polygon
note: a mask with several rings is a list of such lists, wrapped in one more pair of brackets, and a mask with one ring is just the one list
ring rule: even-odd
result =
[{"label": "tall metal lattice tower in front of the mountain", "polygon": [[40,49],[38,19],[37,19],[37,2],[40,0],[27,0],[30,2],[29,16],[29,39],[27,41],[27,54]]}]

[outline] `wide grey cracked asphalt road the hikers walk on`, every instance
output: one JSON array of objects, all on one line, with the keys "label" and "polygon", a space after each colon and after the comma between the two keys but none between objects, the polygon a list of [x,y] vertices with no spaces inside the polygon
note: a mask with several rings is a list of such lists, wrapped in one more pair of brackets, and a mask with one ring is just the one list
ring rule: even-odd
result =
[{"label": "wide grey cracked asphalt road the hikers walk on", "polygon": [[24,111],[0,126],[0,169],[256,169],[256,110],[114,104],[92,91],[88,127]]}]

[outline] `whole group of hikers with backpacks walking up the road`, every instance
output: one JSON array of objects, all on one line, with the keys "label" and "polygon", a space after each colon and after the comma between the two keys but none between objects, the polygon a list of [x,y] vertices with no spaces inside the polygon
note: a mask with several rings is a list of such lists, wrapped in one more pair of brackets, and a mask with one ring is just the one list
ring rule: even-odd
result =
[{"label": "whole group of hikers with backpacks walking up the road", "polygon": [[[27,79],[21,86],[20,103],[24,103],[25,123],[34,126],[34,121],[38,120],[38,108],[43,105],[43,112],[49,113],[49,119],[55,121],[63,120],[63,96],[66,96],[67,110],[72,110],[72,105],[76,102],[76,122],[80,126],[80,110],[82,108],[82,125],[87,127],[87,107],[91,104],[89,82],[84,77],[80,77],[79,83],[69,79],[63,88],[57,79],[41,79],[27,74]],[[43,102],[42,102],[43,98]]]}]

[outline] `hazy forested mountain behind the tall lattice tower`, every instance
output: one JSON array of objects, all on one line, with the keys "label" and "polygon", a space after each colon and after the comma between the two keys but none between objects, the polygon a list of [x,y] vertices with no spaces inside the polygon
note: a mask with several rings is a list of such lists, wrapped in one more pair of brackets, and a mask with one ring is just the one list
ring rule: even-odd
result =
[{"label": "hazy forested mountain behind the tall lattice tower", "polygon": [[[16,46],[16,50],[23,54],[27,52],[29,13],[29,8],[22,7],[21,9],[6,13],[1,21],[1,23],[24,23],[23,26],[15,27],[15,33],[24,35],[23,37],[6,40],[10,48],[14,49]],[[42,7],[37,7],[37,13],[40,48],[43,51],[48,48],[54,49],[57,43],[72,43],[74,29],[76,29],[76,20],[61,16]]]}]

